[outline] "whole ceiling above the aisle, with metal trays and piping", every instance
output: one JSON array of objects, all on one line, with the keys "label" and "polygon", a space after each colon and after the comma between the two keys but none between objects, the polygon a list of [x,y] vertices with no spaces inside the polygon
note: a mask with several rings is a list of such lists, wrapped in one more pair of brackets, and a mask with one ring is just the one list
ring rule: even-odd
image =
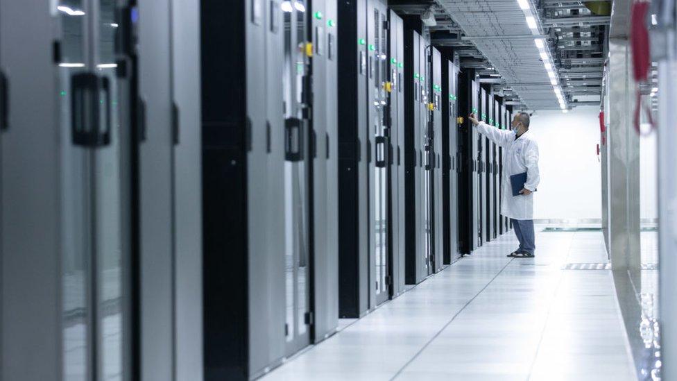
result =
[{"label": "whole ceiling above the aisle, with metal trays and piping", "polygon": [[[558,110],[599,105],[609,4],[573,0],[391,0],[396,12],[412,15],[434,7],[437,26],[429,28],[436,46],[452,46],[461,66],[477,69],[479,81],[526,110]],[[525,3],[522,3],[524,6]],[[590,6],[592,3],[588,3]],[[533,15],[536,28],[525,16]],[[534,39],[543,37],[554,75],[549,76]],[[555,79],[556,78],[556,79]],[[554,86],[553,83],[556,83]],[[555,87],[563,94],[558,101]],[[563,105],[562,105],[563,103]]]}]

